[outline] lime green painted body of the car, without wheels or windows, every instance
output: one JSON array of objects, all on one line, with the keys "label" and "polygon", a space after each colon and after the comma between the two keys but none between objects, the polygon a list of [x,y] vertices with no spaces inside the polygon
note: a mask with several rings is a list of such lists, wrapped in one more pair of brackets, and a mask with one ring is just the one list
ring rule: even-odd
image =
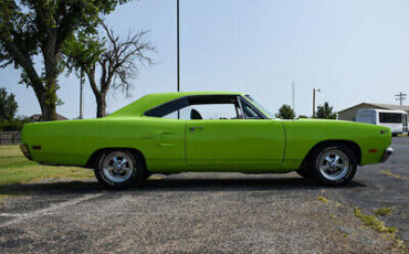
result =
[{"label": "lime green painted body of the car, without wheels or windows", "polygon": [[[170,119],[146,113],[189,96],[238,96],[258,119]],[[243,102],[243,100],[241,100]],[[391,142],[388,128],[340,120],[272,119],[241,93],[150,94],[98,119],[28,124],[22,146],[32,160],[93,168],[98,151],[130,149],[150,172],[290,172],[298,170],[315,147],[343,142],[358,165],[381,162]]]}]

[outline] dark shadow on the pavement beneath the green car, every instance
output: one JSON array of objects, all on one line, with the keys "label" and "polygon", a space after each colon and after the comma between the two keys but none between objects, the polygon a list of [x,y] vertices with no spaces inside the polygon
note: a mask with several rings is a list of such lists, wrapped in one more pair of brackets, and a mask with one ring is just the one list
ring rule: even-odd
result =
[{"label": "dark shadow on the pavement beneath the green car", "polygon": [[147,180],[140,187],[126,190],[107,190],[96,181],[64,181],[13,184],[0,188],[0,197],[90,194],[101,192],[160,192],[160,191],[281,191],[365,188],[356,181],[345,187],[322,187],[303,178],[162,178]]}]

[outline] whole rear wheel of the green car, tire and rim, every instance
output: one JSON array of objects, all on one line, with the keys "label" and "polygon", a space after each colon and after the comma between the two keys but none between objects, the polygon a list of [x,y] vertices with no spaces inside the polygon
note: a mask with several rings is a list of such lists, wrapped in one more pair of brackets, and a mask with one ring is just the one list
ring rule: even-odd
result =
[{"label": "whole rear wheel of the green car, tire and rim", "polygon": [[140,183],[145,171],[140,156],[127,150],[109,150],[101,154],[94,173],[104,187],[125,189]]}]

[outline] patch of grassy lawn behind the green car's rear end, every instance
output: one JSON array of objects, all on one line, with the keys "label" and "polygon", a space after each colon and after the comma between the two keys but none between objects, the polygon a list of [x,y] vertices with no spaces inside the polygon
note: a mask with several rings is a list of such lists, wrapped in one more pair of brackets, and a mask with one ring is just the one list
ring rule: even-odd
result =
[{"label": "patch of grassy lawn behind the green car's rear end", "polygon": [[0,146],[0,188],[41,179],[81,179],[92,177],[94,177],[92,170],[39,165],[25,159],[19,146]]}]

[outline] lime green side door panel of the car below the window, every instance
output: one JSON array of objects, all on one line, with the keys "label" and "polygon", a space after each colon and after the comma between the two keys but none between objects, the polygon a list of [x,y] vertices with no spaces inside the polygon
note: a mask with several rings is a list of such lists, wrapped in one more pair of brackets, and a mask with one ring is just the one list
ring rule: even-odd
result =
[{"label": "lime green side door panel of the car below the window", "polygon": [[188,120],[185,131],[188,170],[265,172],[282,167],[285,139],[280,120]]}]

